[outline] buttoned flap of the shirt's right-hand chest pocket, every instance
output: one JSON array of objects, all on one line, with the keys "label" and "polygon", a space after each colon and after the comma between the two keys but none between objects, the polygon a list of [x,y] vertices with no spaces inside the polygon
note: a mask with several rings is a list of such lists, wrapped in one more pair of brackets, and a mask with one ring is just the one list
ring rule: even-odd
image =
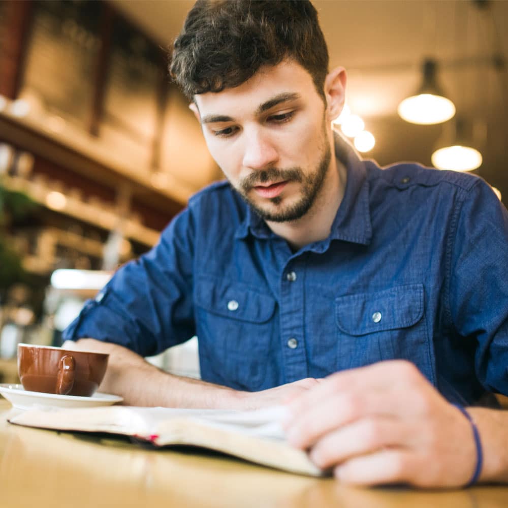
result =
[{"label": "buttoned flap of the shirt's right-hand chest pocket", "polygon": [[348,335],[407,328],[422,319],[423,284],[358,293],[335,299],[337,326]]}]

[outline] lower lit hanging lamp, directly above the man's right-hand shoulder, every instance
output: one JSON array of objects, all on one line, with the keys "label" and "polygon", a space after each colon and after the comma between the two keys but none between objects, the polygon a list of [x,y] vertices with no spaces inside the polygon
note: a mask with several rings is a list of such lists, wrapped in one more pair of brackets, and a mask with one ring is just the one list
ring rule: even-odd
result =
[{"label": "lower lit hanging lamp, directly above the man's right-hand shoulder", "polygon": [[473,146],[477,143],[468,131],[467,122],[460,118],[455,120],[452,137],[448,142],[438,142],[437,149],[431,156],[432,165],[437,169],[453,171],[473,171],[483,162],[481,152]]}]

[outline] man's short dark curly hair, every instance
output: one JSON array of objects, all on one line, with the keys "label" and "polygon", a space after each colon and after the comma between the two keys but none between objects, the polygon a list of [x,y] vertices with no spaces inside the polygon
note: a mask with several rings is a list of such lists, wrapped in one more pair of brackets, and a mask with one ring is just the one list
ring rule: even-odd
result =
[{"label": "man's short dark curly hair", "polygon": [[308,0],[198,0],[175,40],[170,74],[192,99],[286,58],[310,74],[324,99],[328,48]]}]

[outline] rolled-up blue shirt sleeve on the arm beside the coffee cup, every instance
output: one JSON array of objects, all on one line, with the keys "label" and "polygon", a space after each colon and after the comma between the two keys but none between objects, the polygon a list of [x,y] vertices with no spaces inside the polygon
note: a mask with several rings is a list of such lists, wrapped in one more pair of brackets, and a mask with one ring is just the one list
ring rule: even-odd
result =
[{"label": "rolled-up blue shirt sleeve on the arm beside the coffee cup", "polygon": [[96,298],[85,303],[63,339],[91,337],[151,356],[195,335],[194,234],[187,208],[153,249],[121,267]]}]

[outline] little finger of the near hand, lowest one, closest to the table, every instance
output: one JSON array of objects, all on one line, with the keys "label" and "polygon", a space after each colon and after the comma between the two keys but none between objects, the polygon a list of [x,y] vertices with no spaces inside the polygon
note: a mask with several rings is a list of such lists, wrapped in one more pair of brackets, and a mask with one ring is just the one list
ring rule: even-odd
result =
[{"label": "little finger of the near hand, lowest one, closest to the table", "polygon": [[414,459],[404,450],[380,450],[347,460],[334,469],[335,478],[352,485],[412,483]]}]

